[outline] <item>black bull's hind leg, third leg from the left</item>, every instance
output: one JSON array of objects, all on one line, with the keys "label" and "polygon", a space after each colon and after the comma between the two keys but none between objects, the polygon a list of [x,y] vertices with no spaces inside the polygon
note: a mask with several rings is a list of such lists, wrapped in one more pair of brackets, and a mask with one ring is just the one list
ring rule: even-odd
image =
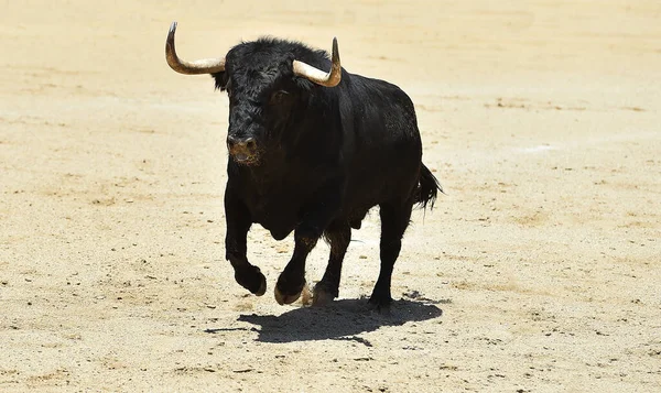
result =
[{"label": "black bull's hind leg, third leg from the left", "polygon": [[330,256],[324,277],[314,287],[312,304],[315,306],[325,305],[339,296],[342,262],[351,241],[351,228],[347,223],[332,225],[325,236],[330,242]]}]

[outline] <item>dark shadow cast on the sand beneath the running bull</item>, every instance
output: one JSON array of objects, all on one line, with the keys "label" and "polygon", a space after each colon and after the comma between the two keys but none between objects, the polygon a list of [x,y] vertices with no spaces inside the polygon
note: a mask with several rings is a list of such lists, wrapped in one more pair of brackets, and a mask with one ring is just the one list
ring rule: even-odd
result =
[{"label": "dark shadow cast on the sand beneath the running bull", "polygon": [[355,340],[370,347],[369,341],[355,335],[441,315],[443,310],[433,304],[408,299],[393,302],[388,315],[370,310],[366,299],[342,299],[326,307],[295,308],[280,316],[241,315],[238,320],[260,326],[257,340],[261,342],[336,339]]}]

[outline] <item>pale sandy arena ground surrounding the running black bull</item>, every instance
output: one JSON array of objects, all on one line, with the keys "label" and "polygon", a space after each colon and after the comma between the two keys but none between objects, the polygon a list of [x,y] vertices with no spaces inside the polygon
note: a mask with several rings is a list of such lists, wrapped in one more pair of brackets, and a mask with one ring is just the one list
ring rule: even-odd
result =
[{"label": "pale sandy arena ground surrounding the running black bull", "polygon": [[[658,392],[659,1],[6,1],[0,391]],[[340,299],[279,306],[261,228],[224,260],[227,97],[164,61],[262,34],[416,103],[447,195],[414,214],[389,317],[378,215]],[[321,279],[328,248],[308,260]]]}]

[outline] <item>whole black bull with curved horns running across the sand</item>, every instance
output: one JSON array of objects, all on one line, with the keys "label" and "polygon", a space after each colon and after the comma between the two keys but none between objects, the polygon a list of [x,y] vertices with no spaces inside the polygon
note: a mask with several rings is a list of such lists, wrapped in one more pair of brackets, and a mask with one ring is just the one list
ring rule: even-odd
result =
[{"label": "whole black bull with curved horns running across the sand", "polygon": [[433,207],[442,192],[422,164],[409,96],[387,81],[342,69],[336,43],[335,81],[327,81],[333,72],[319,81],[296,68],[303,62],[303,67],[329,69],[327,53],[275,39],[241,43],[213,67],[209,61],[186,63],[174,52],[175,28],[166,46],[171,67],[212,74],[229,97],[225,245],[236,281],[256,295],[266,292],[264,275],[247,258],[248,230],[260,223],[277,240],[294,231],[293,255],[275,285],[278,303],[301,295],[305,260],[321,237],[329,242],[330,256],[313,303],[332,301],[338,296],[351,228],[359,229],[378,205],[381,270],[369,303],[387,308],[411,210],[416,204]]}]

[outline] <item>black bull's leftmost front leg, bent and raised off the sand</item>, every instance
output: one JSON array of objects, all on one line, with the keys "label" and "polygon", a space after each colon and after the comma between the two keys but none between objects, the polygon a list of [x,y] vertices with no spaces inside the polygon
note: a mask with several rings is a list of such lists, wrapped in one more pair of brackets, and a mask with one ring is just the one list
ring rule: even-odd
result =
[{"label": "black bull's leftmost front leg, bent and raised off the sand", "polygon": [[252,225],[250,211],[229,189],[225,190],[225,259],[235,270],[235,280],[246,290],[261,296],[267,292],[267,279],[259,268],[248,262],[246,238]]}]

